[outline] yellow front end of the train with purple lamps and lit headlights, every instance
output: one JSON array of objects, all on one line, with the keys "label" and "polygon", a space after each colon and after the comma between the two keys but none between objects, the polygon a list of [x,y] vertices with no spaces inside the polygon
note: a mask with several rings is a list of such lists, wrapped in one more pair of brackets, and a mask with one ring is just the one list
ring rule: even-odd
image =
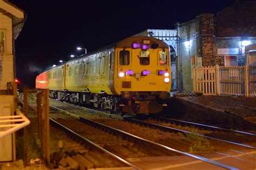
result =
[{"label": "yellow front end of the train with purple lamps and lit headlights", "polygon": [[157,113],[170,97],[169,46],[152,37],[130,37],[114,49],[113,88],[123,112]]}]

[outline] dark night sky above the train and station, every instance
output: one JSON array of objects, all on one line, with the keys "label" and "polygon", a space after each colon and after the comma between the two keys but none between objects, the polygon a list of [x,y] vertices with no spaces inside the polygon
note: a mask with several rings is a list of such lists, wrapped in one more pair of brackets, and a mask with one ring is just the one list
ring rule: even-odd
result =
[{"label": "dark night sky above the train and station", "polygon": [[15,41],[17,78],[35,87],[36,76],[59,60],[81,55],[146,29],[175,29],[200,13],[216,13],[234,0],[35,1],[9,0],[27,18]]}]

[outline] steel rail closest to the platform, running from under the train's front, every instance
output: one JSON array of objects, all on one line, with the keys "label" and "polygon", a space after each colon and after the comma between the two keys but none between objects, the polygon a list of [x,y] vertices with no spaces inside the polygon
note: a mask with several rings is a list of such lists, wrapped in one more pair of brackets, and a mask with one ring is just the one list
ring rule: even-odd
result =
[{"label": "steel rail closest to the platform, running from under the train's front", "polygon": [[177,119],[158,117],[158,116],[150,116],[150,117],[153,118],[153,119],[159,119],[160,121],[165,121],[165,122],[170,122],[170,123],[175,123],[175,124],[180,124],[180,125],[193,125],[193,126],[196,126],[197,128],[213,129],[213,130],[219,130],[219,131],[224,131],[224,132],[236,132],[236,133],[256,136],[256,134],[254,134],[254,133],[248,133],[248,132],[243,132],[243,131],[238,131],[238,130],[230,130],[230,129],[225,129],[225,128],[219,128],[217,126],[211,126],[211,125],[205,125],[205,124],[187,122],[187,121],[180,121],[180,120],[177,120]]}]

